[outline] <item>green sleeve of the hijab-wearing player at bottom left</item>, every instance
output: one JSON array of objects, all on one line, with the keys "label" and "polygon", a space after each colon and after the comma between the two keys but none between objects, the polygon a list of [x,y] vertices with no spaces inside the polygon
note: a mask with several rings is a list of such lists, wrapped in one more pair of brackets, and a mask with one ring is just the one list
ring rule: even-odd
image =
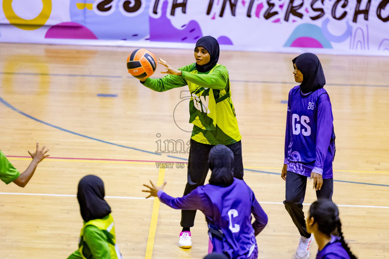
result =
[{"label": "green sleeve of the hijab-wearing player at bottom left", "polygon": [[91,250],[93,258],[111,259],[111,252],[107,242],[107,236],[93,225],[84,229],[84,240]]}]

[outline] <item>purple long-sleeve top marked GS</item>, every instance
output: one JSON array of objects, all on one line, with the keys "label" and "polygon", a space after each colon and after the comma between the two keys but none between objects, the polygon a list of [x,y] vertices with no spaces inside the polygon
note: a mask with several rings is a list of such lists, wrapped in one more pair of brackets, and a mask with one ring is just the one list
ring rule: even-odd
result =
[{"label": "purple long-sleeve top marked GS", "polygon": [[284,163],[287,170],[309,177],[333,177],[335,133],[331,101],[324,88],[302,94],[300,86],[289,92]]}]

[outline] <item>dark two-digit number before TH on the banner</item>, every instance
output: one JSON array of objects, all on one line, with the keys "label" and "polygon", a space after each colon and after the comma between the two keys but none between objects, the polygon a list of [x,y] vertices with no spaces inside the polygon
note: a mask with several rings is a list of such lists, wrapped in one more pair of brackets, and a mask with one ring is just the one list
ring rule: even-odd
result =
[{"label": "dark two-digit number before TH on the banner", "polygon": [[107,16],[118,7],[124,16],[137,16],[143,12],[146,0],[96,0],[93,3],[95,14]]}]

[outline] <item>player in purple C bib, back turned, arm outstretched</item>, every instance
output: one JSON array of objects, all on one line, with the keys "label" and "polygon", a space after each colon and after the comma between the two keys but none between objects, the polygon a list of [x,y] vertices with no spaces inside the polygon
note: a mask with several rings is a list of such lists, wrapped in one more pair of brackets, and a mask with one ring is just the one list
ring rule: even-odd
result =
[{"label": "player in purple C bib, back turned, arm outstretched", "polygon": [[[173,198],[162,186],[144,184],[150,196],[158,196],[173,209],[201,210],[208,222],[208,234],[213,252],[230,259],[256,259],[258,246],[255,236],[261,232],[268,218],[245,181],[234,178],[234,154],[224,145],[214,146],[209,153],[212,171],[209,184],[198,186],[189,194]],[[151,181],[150,181],[151,182]],[[251,223],[252,215],[255,221]]]}]

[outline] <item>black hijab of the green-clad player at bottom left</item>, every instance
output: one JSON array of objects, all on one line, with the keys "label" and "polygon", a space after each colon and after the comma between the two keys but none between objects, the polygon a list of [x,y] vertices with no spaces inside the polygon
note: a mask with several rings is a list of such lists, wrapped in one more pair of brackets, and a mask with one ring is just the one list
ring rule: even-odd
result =
[{"label": "black hijab of the green-clad player at bottom left", "polygon": [[102,219],[111,213],[111,208],[104,200],[103,180],[98,176],[84,176],[78,184],[77,200],[80,203],[82,219]]}]

